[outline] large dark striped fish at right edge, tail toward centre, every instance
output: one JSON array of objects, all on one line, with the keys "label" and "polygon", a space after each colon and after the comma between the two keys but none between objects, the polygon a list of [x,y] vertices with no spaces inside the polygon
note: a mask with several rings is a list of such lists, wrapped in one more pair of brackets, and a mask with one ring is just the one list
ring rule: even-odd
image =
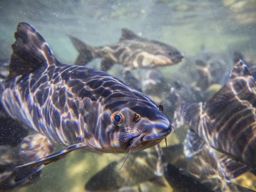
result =
[{"label": "large dark striped fish at right edge, tail toward centre", "polygon": [[220,151],[227,179],[255,170],[256,83],[242,60],[234,64],[228,82],[206,102],[184,102],[171,88],[175,112],[172,124],[190,129],[184,153],[191,157],[205,145]]}]

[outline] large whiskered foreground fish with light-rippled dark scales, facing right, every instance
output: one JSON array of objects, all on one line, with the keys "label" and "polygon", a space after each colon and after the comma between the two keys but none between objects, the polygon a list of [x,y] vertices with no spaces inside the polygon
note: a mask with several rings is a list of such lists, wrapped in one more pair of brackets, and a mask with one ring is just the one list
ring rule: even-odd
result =
[{"label": "large whiskered foreground fish with light-rippled dark scales, facing right", "polygon": [[[30,24],[19,23],[14,36],[0,101],[12,118],[37,132],[22,140],[25,160],[17,169],[36,173],[77,149],[126,153],[127,159],[171,133],[162,106],[150,97],[103,71],[60,63]],[[56,145],[65,148],[54,153]]]}]

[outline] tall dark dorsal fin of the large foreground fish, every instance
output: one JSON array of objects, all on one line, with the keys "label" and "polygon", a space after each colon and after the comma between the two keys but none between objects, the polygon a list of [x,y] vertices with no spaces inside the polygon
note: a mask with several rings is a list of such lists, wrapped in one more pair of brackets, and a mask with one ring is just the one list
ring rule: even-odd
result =
[{"label": "tall dark dorsal fin of the large foreground fish", "polygon": [[19,23],[14,33],[10,69],[7,79],[29,74],[36,69],[55,63],[55,57],[43,37],[27,23]]}]

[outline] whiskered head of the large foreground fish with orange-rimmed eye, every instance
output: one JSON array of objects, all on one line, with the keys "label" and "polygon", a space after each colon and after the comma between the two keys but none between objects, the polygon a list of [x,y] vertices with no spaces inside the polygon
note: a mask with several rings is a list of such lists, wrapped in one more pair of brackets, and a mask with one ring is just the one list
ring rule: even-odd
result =
[{"label": "whiskered head of the large foreground fish with orange-rimmed eye", "polygon": [[169,120],[162,107],[143,93],[134,97],[120,94],[106,103],[101,118],[104,141],[101,146],[110,153],[144,150],[160,143],[171,133]]}]

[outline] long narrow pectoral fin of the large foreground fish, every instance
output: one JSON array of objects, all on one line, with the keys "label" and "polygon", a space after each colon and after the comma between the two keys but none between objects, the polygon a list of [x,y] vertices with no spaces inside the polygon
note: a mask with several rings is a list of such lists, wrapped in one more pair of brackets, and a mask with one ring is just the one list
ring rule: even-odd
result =
[{"label": "long narrow pectoral fin of the large foreground fish", "polygon": [[27,168],[27,167],[35,167],[35,166],[40,166],[40,165],[47,165],[49,163],[58,161],[59,159],[62,159],[65,157],[68,153],[71,151],[77,150],[79,148],[86,147],[86,144],[84,142],[77,143],[71,146],[66,147],[65,149],[58,151],[56,153],[52,153],[42,159],[26,163],[24,165],[18,166],[17,168]]}]

